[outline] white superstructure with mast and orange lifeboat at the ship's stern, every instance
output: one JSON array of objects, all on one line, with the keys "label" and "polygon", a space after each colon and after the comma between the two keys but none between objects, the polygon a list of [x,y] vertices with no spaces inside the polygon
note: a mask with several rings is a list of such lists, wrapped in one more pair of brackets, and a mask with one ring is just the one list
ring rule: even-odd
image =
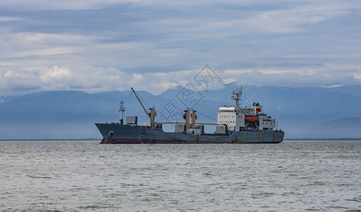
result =
[{"label": "white superstructure with mast and orange lifeboat at the ship's stern", "polygon": [[235,107],[219,107],[217,124],[227,126],[227,131],[267,130],[275,128],[275,119],[263,113],[263,106],[253,103],[251,108],[239,107],[242,88],[233,90],[232,99],[236,100]]}]

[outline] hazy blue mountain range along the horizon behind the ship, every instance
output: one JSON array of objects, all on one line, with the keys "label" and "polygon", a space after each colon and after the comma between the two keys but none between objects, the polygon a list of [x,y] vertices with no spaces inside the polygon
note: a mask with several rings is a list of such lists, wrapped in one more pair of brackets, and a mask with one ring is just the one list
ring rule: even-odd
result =
[{"label": "hazy blue mountain range along the horizon behind the ship", "polygon": [[[203,90],[198,99],[186,99],[183,87],[159,95],[139,91],[145,107],[155,106],[159,121],[180,121],[185,105],[197,110],[199,122],[216,122],[221,105],[234,105],[231,90]],[[130,90],[88,94],[79,91],[33,93],[0,98],[0,139],[101,139],[94,122],[118,122],[120,100],[126,115],[148,118]],[[199,100],[199,101],[198,101]],[[191,103],[190,103],[191,102]],[[196,103],[195,103],[196,102]],[[243,87],[242,104],[259,102],[278,121],[287,138],[361,137],[361,86],[338,88]],[[173,107],[170,107],[173,106]],[[170,110],[177,110],[169,116]],[[165,126],[166,130],[173,130]],[[212,132],[212,127],[208,131]]]}]

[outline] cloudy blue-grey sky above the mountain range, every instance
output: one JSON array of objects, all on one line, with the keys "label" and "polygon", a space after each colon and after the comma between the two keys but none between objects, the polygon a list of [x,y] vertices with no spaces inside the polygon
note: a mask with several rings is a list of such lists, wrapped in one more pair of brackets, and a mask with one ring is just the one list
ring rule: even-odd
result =
[{"label": "cloudy blue-grey sky above the mountain range", "polygon": [[[361,1],[0,0],[0,95],[361,84]],[[218,89],[219,86],[212,89]]]}]

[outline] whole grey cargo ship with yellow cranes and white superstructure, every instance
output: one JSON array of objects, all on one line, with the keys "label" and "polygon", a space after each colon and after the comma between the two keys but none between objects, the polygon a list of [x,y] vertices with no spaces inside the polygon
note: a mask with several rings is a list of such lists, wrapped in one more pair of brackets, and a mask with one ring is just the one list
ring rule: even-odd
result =
[{"label": "whole grey cargo ship with yellow cranes and white superstructure", "polygon": [[[124,101],[120,102],[120,122],[96,123],[103,139],[101,143],[280,143],[285,132],[276,128],[276,121],[254,102],[250,108],[240,107],[242,88],[232,91],[234,107],[219,107],[217,123],[197,123],[196,111],[184,110],[184,122],[156,122],[155,107],[147,112],[139,96],[135,97],[149,117],[149,122],[138,125],[137,116],[127,116],[123,123]],[[174,132],[164,131],[163,124],[174,124]],[[205,133],[205,125],[215,125],[212,134]]]}]

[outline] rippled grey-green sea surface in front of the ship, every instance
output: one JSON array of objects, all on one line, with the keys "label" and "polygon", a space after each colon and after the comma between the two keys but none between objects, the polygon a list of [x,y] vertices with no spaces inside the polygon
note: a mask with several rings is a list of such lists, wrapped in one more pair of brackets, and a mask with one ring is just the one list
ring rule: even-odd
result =
[{"label": "rippled grey-green sea surface in front of the ship", "polygon": [[0,141],[0,211],[360,211],[361,141]]}]

